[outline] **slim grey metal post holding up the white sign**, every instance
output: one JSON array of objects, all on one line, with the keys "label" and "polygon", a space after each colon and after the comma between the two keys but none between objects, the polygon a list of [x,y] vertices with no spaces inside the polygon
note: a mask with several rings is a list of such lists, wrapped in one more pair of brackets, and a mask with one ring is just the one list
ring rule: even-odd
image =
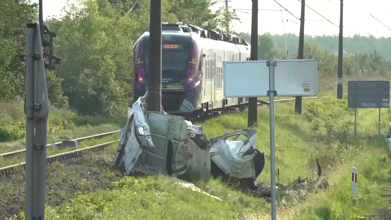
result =
[{"label": "slim grey metal post holding up the white sign", "polygon": [[275,119],[274,119],[274,66],[273,57],[269,58],[269,97],[270,97],[270,170],[271,170],[271,219],[276,220],[276,152],[275,152]]}]

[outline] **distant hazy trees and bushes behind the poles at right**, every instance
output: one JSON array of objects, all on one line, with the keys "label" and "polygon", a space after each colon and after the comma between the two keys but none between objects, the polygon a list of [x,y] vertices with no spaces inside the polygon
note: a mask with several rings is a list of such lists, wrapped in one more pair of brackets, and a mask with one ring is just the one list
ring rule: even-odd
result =
[{"label": "distant hazy trees and bushes behind the poles at right", "polygon": [[[268,60],[270,55],[273,55],[276,59],[297,59],[298,58],[298,46],[294,50],[288,48],[289,57],[287,56],[285,43],[282,47],[279,42],[279,38],[282,36],[269,33],[262,34],[258,37],[258,59]],[[249,39],[249,35],[246,36]],[[328,38],[328,36],[319,37],[319,39]],[[361,37],[364,38],[365,37]],[[377,39],[377,38],[371,38]],[[380,39],[378,39],[380,42]],[[381,39],[384,40],[384,39]],[[325,39],[326,41],[326,39]],[[347,40],[346,40],[347,41]],[[368,40],[369,41],[369,40]],[[389,40],[391,43],[391,40]],[[298,43],[298,39],[297,42]],[[369,41],[370,42],[370,41]],[[288,44],[292,45],[292,44]],[[344,43],[344,48],[345,48]],[[364,43],[355,44],[355,48],[362,48]],[[335,46],[338,47],[338,41],[335,42]],[[364,52],[350,52],[344,53],[343,61],[343,74],[345,76],[355,77],[388,77],[391,74],[391,61],[389,58],[382,56],[379,51],[381,49],[386,50],[386,45],[375,47],[371,50],[365,50]],[[346,48],[345,48],[346,49]],[[386,50],[388,52],[388,50]],[[385,52],[385,51],[383,51]],[[337,76],[338,72],[338,53],[335,54],[334,50],[329,50],[322,43],[315,43],[311,41],[309,36],[305,38],[304,45],[304,58],[315,59],[318,62],[319,77],[323,76]]]}]

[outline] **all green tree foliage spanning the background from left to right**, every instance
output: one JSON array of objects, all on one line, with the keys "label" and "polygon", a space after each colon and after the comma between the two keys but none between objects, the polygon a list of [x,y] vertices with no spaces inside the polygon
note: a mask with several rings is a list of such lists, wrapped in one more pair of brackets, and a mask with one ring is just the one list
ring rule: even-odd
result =
[{"label": "all green tree foliage spanning the background from left to right", "polygon": [[[60,107],[69,105],[84,115],[122,115],[131,104],[133,46],[149,29],[150,1],[79,0],[79,3],[84,6],[68,3],[61,20],[45,22],[57,33],[54,54],[62,59],[56,70],[47,71],[50,102]],[[237,17],[230,8],[228,13],[225,7],[213,12],[211,6],[215,3],[163,0],[162,19],[226,31]],[[25,24],[37,20],[37,14],[37,5],[25,0],[4,0],[0,7],[0,99],[24,97],[25,64],[18,60],[18,55],[25,54]],[[237,34],[250,42],[248,33]],[[319,74],[337,73],[336,39],[305,36],[305,58],[318,61]],[[344,74],[389,75],[391,64],[380,54],[386,47],[367,43],[372,46],[358,49],[357,45],[364,44],[362,39],[384,45],[388,42],[372,37],[355,36],[350,39],[353,41],[346,38],[345,49],[350,53],[344,57]],[[356,44],[355,50],[350,42]],[[287,45],[289,58],[297,58],[298,37],[287,34]],[[258,36],[259,59],[269,56],[286,59],[286,55],[284,36],[269,33]]]}]

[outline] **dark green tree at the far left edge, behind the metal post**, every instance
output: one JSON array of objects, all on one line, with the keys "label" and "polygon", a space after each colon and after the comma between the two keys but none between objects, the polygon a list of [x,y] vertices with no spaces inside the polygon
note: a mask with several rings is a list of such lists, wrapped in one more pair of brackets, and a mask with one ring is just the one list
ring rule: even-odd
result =
[{"label": "dark green tree at the far left edge, behind the metal post", "polygon": [[3,0],[0,7],[0,99],[24,97],[26,23],[36,17],[37,4],[23,0]]}]

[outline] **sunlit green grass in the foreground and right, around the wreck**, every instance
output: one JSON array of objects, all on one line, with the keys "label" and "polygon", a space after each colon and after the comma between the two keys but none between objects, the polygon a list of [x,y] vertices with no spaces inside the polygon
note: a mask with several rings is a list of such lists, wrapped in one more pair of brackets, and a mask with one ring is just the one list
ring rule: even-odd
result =
[{"label": "sunlit green grass in the foreground and right, around the wreck", "polygon": [[[288,184],[311,176],[317,157],[330,189],[310,192],[304,198],[288,197],[278,207],[279,219],[362,219],[384,206],[379,190],[389,181],[386,144],[377,141],[377,110],[362,109],[359,131],[353,135],[354,112],[346,100],[326,98],[303,101],[303,114],[294,115],[293,103],[276,105],[276,159],[280,182]],[[389,124],[382,112],[382,129]],[[258,182],[270,182],[269,109],[258,110],[257,148],[267,154]],[[208,138],[247,127],[247,112],[221,115],[202,124]],[[107,150],[113,154],[117,145]],[[351,198],[351,169],[359,170],[359,200]],[[196,182],[196,186],[221,198],[216,200],[176,186],[163,176],[124,177],[113,189],[82,193],[60,206],[47,206],[47,219],[270,219],[269,202],[238,191],[221,180]]]}]

